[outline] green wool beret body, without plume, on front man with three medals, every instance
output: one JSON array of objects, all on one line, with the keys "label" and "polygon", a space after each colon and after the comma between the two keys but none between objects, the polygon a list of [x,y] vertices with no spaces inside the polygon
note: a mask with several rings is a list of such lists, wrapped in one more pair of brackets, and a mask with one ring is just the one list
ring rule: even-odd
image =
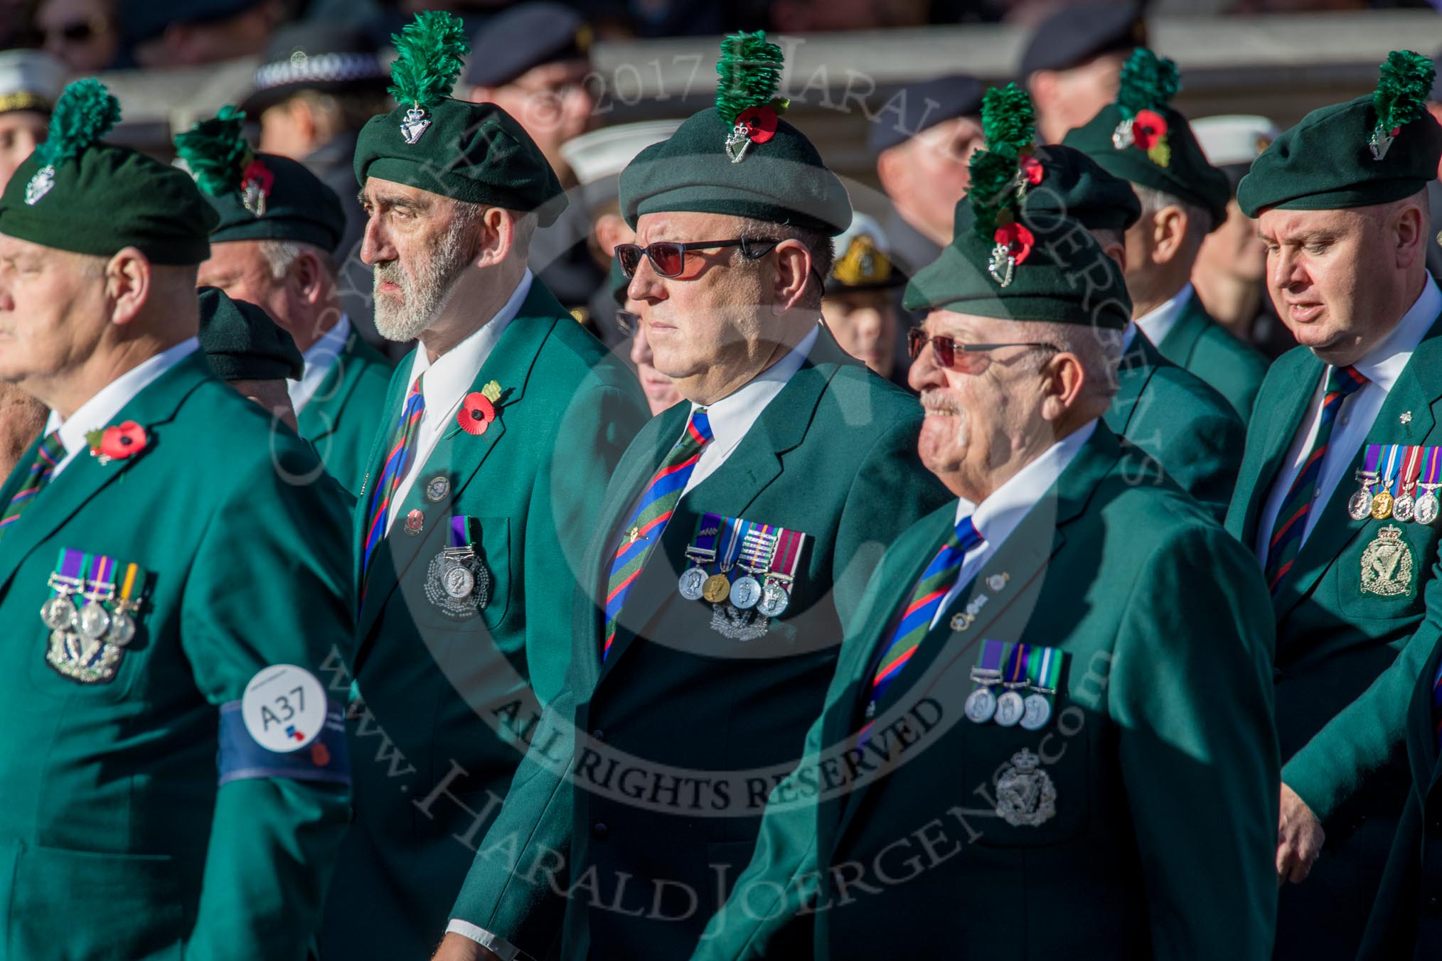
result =
[{"label": "green wool beret body, without plume, on front man with three medals", "polygon": [[952,242],[907,284],[907,310],[945,308],[979,317],[1112,330],[1131,321],[1132,298],[1122,271],[1082,222],[1054,213],[1038,215],[1030,226],[1035,243],[1017,264],[1007,287],[988,272],[995,243],[983,241],[975,223],[975,213],[963,199],[956,205]]}]

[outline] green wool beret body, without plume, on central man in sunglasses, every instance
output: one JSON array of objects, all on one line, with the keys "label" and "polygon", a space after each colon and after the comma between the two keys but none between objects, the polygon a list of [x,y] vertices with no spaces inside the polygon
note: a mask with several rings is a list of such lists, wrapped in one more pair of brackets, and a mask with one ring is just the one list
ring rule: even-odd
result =
[{"label": "green wool beret body, without plume, on central man in sunglasses", "polygon": [[730,213],[835,236],[851,225],[851,197],[806,135],[784,120],[740,163],[727,156],[734,130],[721,112],[692,114],[622,171],[620,200],[634,229],[646,213]]}]

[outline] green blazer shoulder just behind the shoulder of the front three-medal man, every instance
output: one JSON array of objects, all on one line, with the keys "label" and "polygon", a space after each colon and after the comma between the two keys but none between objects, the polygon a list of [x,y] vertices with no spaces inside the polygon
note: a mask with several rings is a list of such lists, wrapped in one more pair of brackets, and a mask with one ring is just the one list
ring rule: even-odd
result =
[{"label": "green blazer shoulder just behind the shoulder of the front three-medal man", "polygon": [[1141,330],[1122,356],[1106,426],[1152,455],[1138,481],[1167,477],[1211,510],[1227,513],[1246,426],[1226,398],[1158,353]]}]

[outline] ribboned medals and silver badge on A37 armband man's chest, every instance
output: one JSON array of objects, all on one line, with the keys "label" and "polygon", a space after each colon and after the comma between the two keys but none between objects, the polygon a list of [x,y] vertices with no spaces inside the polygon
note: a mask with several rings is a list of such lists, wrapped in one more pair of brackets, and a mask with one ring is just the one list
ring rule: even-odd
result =
[{"label": "ribboned medals and silver badge on A37 armband man's chest", "polygon": [[45,663],[81,684],[115,680],[136,640],[146,572],[104,555],[62,547],[40,607],[49,628]]}]

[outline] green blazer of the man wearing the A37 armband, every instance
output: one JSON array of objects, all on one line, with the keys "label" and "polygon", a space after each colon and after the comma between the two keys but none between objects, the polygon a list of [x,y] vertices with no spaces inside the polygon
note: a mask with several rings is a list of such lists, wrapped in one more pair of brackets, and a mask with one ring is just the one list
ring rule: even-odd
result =
[{"label": "green blazer of the man wearing the A37 armband", "polygon": [[[218,787],[218,729],[261,669],[296,664],[329,684],[348,653],[346,496],[323,474],[290,484],[314,471],[314,451],[273,432],[200,353],[123,421],[147,431],[140,454],[78,455],[0,537],[0,958],[301,961],[349,791],[280,777]],[[6,503],[35,452],[0,487]],[[147,573],[108,681],[48,663],[39,611],[62,549]]]}]

